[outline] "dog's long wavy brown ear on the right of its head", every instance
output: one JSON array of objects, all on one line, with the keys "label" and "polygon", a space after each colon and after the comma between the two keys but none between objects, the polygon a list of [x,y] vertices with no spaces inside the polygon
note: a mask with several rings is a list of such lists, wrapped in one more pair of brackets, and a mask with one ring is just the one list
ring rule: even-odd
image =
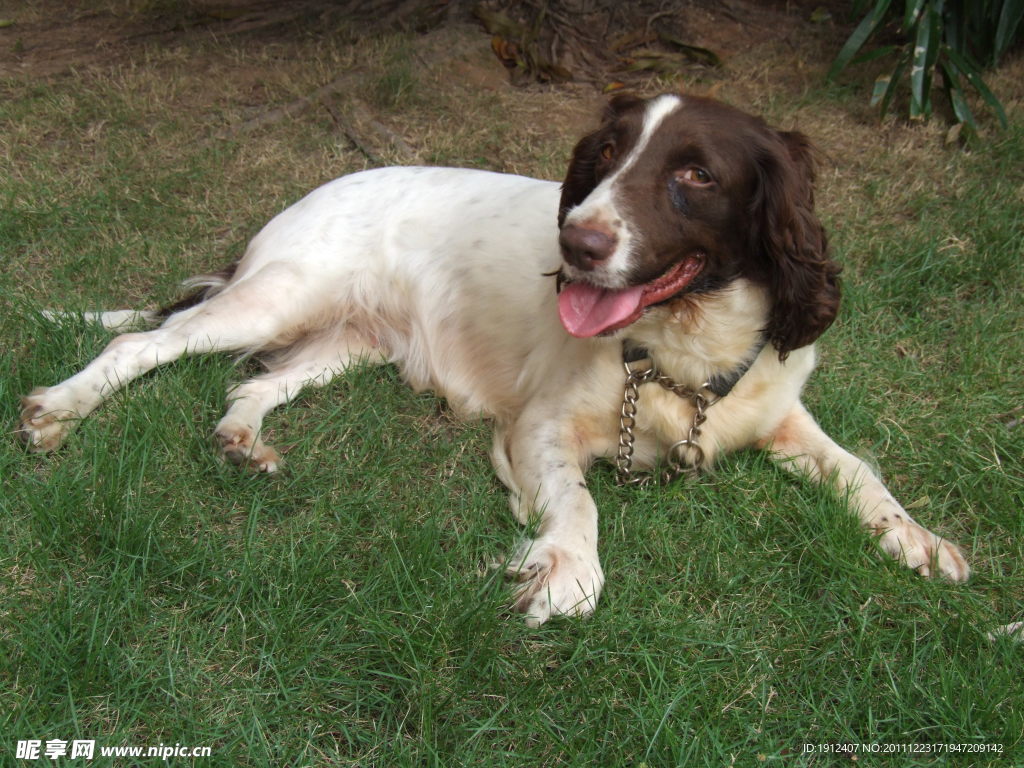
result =
[{"label": "dog's long wavy brown ear on the right of its head", "polygon": [[772,294],[767,328],[779,358],[810,344],[836,319],[840,266],[814,213],[814,156],[802,133],[779,132],[761,147],[754,203],[757,242]]}]

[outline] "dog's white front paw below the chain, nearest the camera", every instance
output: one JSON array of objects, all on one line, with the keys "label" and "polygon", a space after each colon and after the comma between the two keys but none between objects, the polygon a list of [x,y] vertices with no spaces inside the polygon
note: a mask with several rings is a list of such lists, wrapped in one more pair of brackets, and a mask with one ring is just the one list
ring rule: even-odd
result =
[{"label": "dog's white front paw below the chain, nearest the camera", "polygon": [[571,547],[541,539],[526,542],[508,565],[518,582],[512,607],[540,627],[553,615],[586,615],[597,607],[604,573],[592,547]]}]

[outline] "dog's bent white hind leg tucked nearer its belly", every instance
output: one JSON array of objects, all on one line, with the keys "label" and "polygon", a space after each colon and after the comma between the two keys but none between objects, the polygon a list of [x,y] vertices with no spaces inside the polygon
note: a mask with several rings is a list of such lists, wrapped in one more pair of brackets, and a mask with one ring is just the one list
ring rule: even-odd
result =
[{"label": "dog's bent white hind leg tucked nearer its belly", "polygon": [[275,472],[281,457],[263,442],[263,417],[292,400],[302,389],[324,386],[352,364],[383,361],[379,351],[361,343],[356,334],[331,337],[300,342],[287,355],[270,362],[266,374],[227,393],[227,412],[214,432],[225,459],[258,472]]}]

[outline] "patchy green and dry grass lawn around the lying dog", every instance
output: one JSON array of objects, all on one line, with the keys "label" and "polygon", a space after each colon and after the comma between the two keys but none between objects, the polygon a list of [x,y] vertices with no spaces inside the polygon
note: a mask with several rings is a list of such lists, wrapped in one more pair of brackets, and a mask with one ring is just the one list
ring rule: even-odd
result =
[{"label": "patchy green and dry grass lawn around the lying dog", "polygon": [[[601,604],[527,629],[495,567],[522,531],[487,425],[389,369],[275,412],[270,477],[217,461],[254,365],[223,356],[133,383],[54,455],[23,449],[18,397],[110,338],[38,310],[173,298],[367,167],[353,133],[380,162],[555,178],[600,103],[481,85],[476,30],[346,40],[196,34],[0,80],[0,765],[35,764],[28,739],[93,739],[100,765],[160,764],[100,745],[209,746],[168,761],[203,768],[1024,765],[1024,645],[986,638],[1024,618],[1020,59],[993,76],[1013,126],[969,151],[879,125],[813,46],[754,45],[715,85],[817,140],[845,304],[806,401],[962,546],[966,585],[888,561],[842,499],[757,454],[666,489],[600,465]],[[224,131],[346,70],[324,109]]]}]

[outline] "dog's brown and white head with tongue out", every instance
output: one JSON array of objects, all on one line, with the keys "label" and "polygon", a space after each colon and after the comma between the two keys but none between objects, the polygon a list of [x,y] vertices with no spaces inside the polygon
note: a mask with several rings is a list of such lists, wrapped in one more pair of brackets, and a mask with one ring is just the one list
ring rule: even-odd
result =
[{"label": "dog's brown and white head with tongue out", "polygon": [[559,309],[575,336],[612,333],[680,295],[765,286],[780,356],[839,308],[814,214],[807,139],[712,99],[616,96],[572,153],[558,212]]}]

